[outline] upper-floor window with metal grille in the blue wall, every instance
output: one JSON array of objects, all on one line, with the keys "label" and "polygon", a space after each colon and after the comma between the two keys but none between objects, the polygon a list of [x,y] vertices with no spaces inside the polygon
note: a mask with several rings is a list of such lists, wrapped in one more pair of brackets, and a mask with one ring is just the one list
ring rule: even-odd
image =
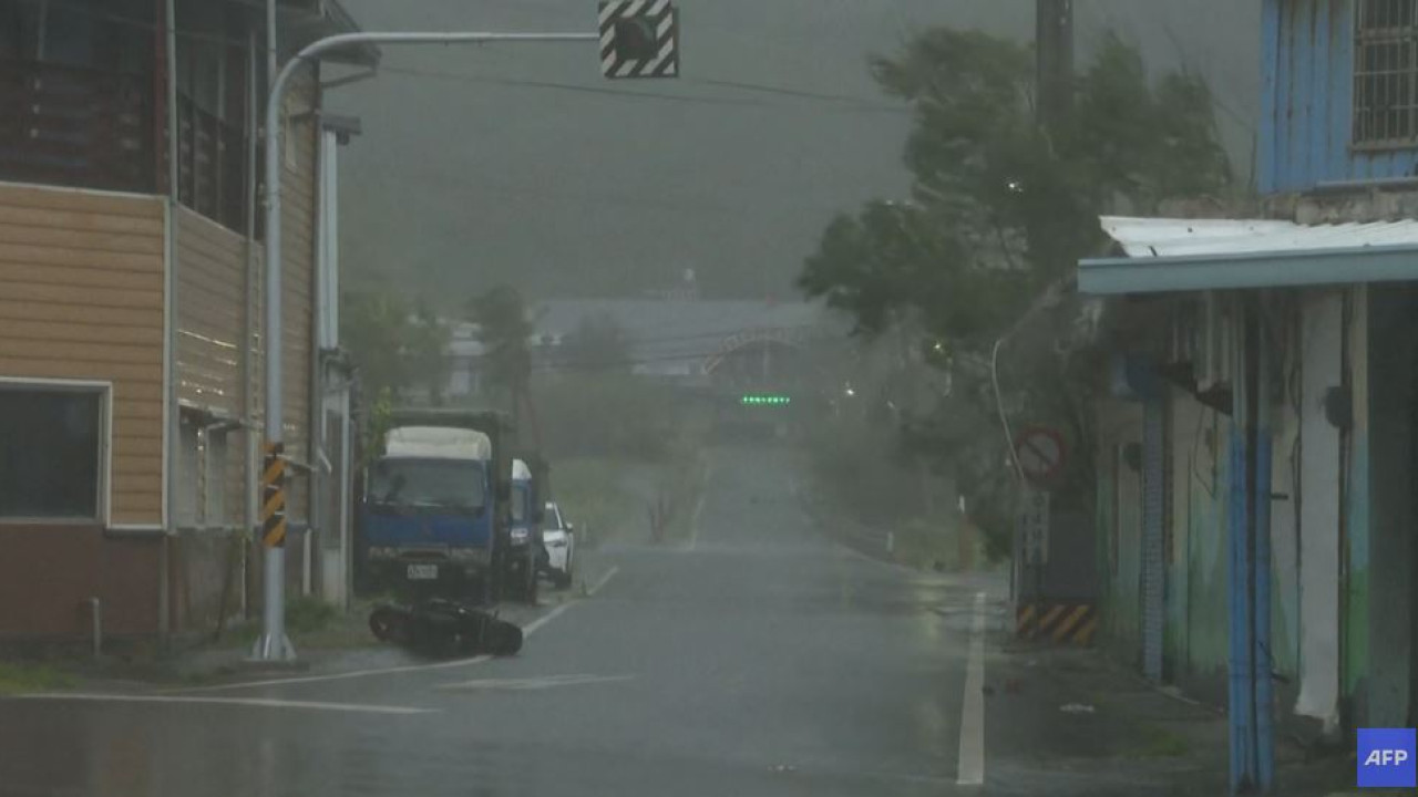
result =
[{"label": "upper-floor window with metal grille in the blue wall", "polygon": [[1418,145],[1418,0],[1358,0],[1354,145]]}]

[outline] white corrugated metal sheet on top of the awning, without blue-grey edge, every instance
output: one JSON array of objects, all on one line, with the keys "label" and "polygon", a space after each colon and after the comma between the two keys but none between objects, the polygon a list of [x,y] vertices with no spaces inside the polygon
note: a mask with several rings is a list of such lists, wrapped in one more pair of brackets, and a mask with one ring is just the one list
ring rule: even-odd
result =
[{"label": "white corrugated metal sheet on top of the awning, without blue-grey edge", "polygon": [[1129,257],[1201,257],[1418,244],[1418,221],[1296,224],[1265,218],[1105,216],[1103,231]]}]

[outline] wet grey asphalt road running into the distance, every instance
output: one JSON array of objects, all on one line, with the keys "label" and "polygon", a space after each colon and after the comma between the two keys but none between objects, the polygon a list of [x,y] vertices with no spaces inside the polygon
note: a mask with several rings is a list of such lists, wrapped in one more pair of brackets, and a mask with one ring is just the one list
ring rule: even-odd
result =
[{"label": "wet grey asphalt road running into the distance", "polygon": [[774,455],[713,461],[695,540],[603,552],[516,658],[4,701],[0,794],[954,791],[974,589],[828,542]]}]

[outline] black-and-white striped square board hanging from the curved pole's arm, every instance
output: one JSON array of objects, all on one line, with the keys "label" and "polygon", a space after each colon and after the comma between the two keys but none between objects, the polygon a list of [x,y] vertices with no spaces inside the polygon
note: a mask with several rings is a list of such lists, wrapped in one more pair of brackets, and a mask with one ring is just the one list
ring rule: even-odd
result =
[{"label": "black-and-white striped square board hanging from the curved pole's arm", "polygon": [[601,74],[679,75],[679,9],[669,0],[601,0]]}]

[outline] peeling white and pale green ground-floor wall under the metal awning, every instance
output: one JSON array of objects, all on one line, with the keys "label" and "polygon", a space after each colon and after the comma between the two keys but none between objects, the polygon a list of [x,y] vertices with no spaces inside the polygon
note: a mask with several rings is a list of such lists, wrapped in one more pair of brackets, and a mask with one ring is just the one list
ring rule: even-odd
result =
[{"label": "peeling white and pale green ground-floor wall under the metal awning", "polygon": [[[1401,532],[1418,526],[1411,476],[1418,459],[1418,444],[1412,442],[1418,440],[1412,431],[1418,321],[1408,322],[1404,332],[1408,345],[1378,340],[1367,301],[1366,291],[1346,286],[1273,292],[1266,305],[1275,363],[1265,438],[1272,459],[1272,628],[1266,647],[1271,669],[1279,676],[1280,710],[1327,729],[1340,722],[1341,706],[1350,708],[1350,726],[1363,716],[1401,726],[1412,698],[1409,648],[1418,640],[1408,628],[1414,552],[1405,547],[1411,535]],[[1418,292],[1407,301],[1412,305],[1395,305],[1388,315],[1418,319]],[[1378,374],[1388,379],[1378,406],[1390,416],[1385,428],[1392,433],[1385,434],[1408,442],[1387,440],[1377,451],[1370,440],[1375,400],[1374,386],[1367,383],[1371,349],[1385,352],[1385,373],[1401,363],[1409,372],[1402,381]],[[1326,413],[1326,398],[1346,383],[1353,389],[1353,423],[1341,433]],[[1167,389],[1166,404],[1164,678],[1222,702],[1229,664],[1232,438],[1239,433],[1225,411],[1202,404],[1178,384]],[[1407,416],[1392,417],[1398,410]],[[1103,638],[1119,658],[1137,662],[1141,481],[1129,467],[1127,447],[1141,442],[1141,404],[1116,397],[1100,403],[1098,428]],[[1371,478],[1378,467],[1392,474],[1387,488],[1383,479]],[[1377,509],[1380,502],[1383,509]],[[1383,567],[1370,564],[1371,547],[1380,543],[1387,552],[1383,574]],[[1370,611],[1378,604],[1397,610],[1380,617]],[[1375,659],[1383,665],[1375,667]]]}]

